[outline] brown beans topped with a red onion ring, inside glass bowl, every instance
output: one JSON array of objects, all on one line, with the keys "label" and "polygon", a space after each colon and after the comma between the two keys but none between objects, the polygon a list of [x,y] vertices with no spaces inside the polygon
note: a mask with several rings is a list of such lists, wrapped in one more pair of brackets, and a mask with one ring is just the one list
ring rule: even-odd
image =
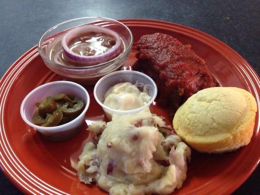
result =
[{"label": "brown beans topped with a red onion ring, inside glass bowl", "polygon": [[69,30],[49,46],[49,58],[68,66],[95,65],[119,56],[123,43],[115,31],[92,24]]}]

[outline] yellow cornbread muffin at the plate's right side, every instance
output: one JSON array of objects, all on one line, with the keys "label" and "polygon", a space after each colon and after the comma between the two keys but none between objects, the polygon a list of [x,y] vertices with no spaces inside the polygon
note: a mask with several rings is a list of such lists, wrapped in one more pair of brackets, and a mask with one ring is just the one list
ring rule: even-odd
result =
[{"label": "yellow cornbread muffin at the plate's right side", "polygon": [[177,110],[173,126],[192,148],[204,153],[233,151],[250,142],[257,103],[236,87],[212,87],[191,96]]}]

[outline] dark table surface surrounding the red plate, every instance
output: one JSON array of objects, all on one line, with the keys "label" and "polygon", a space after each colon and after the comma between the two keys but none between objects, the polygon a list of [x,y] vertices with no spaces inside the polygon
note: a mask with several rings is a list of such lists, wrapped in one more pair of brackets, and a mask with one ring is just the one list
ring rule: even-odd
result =
[{"label": "dark table surface surrounding the red plate", "polygon": [[[0,76],[47,29],[87,16],[165,20],[196,28],[232,47],[260,75],[260,0],[1,0],[0,8]],[[260,168],[233,195],[257,195],[259,178]],[[2,172],[0,194],[21,195]]]}]

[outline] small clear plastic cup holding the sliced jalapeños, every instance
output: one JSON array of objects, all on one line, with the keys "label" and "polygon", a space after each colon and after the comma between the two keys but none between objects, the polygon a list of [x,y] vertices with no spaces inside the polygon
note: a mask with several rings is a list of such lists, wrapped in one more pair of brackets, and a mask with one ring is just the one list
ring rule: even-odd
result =
[{"label": "small clear plastic cup holding the sliced jalape\u00f1os", "polygon": [[[42,127],[32,123],[31,119],[39,102],[47,96],[59,94],[73,95],[81,98],[85,102],[85,108],[78,117],[72,121],[54,127]],[[51,140],[65,140],[74,136],[84,122],[85,113],[89,107],[90,98],[88,92],[81,85],[71,81],[54,81],[43,84],[32,90],[22,101],[20,115],[24,122],[40,132],[44,137]]]}]

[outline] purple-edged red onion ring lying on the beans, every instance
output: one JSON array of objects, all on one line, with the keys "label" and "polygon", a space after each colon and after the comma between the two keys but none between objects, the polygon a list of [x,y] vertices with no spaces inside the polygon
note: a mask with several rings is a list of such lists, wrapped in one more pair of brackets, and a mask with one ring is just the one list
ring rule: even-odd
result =
[{"label": "purple-edged red onion ring lying on the beans", "polygon": [[[105,33],[107,35],[111,35],[116,39],[116,44],[112,48],[110,48],[107,52],[104,52],[103,54],[99,54],[97,56],[81,56],[79,54],[72,52],[67,45],[68,42],[71,39],[74,39],[77,36],[82,35],[85,32]],[[115,54],[117,54],[120,51],[121,39],[120,39],[119,35],[111,29],[88,24],[85,26],[76,27],[76,28],[70,30],[69,32],[67,32],[61,39],[61,45],[64,50],[64,54],[68,58],[73,59],[75,61],[93,63],[93,62],[100,62],[100,61],[104,61],[106,59],[110,59]]]}]

